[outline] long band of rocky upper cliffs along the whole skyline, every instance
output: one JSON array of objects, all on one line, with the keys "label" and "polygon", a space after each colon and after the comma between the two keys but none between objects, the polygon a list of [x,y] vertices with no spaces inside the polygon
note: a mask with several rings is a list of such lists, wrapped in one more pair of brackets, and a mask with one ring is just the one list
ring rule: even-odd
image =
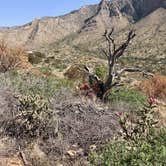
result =
[{"label": "long band of rocky upper cliffs along the whole skyline", "polygon": [[60,17],[44,17],[18,27],[0,28],[0,39],[11,45],[38,47],[75,33],[103,32],[106,28],[124,29],[160,7],[166,0],[102,0],[99,5],[82,7]]}]

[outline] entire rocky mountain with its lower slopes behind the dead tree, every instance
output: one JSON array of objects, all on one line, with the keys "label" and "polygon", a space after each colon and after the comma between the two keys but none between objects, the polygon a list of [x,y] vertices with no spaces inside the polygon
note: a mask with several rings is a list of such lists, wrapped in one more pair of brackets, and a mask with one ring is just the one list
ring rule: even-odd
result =
[{"label": "entire rocky mountain with its lower slopes behind the dead tree", "polygon": [[[99,48],[105,29],[115,28],[117,44],[129,29],[136,38],[127,50],[127,63],[166,71],[166,0],[102,0],[60,17],[45,17],[19,27],[0,28],[0,39],[43,52],[47,65],[64,71],[73,63],[104,64]],[[148,58],[148,61],[147,61]],[[126,60],[125,60],[126,61]],[[124,63],[124,62],[123,62]]]}]

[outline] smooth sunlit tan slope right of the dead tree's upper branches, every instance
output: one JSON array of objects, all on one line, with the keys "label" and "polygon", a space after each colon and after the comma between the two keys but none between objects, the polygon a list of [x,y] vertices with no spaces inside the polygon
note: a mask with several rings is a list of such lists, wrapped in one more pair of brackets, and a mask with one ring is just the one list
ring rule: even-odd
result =
[{"label": "smooth sunlit tan slope right of the dead tree's upper branches", "polygon": [[134,56],[166,56],[166,9],[159,8],[133,26],[137,37],[130,53]]}]

